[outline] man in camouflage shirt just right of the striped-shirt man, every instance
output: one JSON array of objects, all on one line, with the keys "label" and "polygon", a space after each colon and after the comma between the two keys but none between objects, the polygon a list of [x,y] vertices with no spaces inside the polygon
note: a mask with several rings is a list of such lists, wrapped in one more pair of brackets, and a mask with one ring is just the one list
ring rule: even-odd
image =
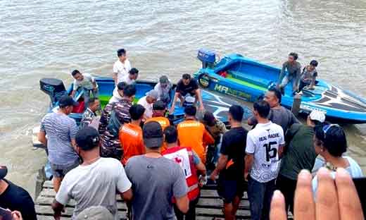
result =
[{"label": "man in camouflage shirt just right of the striped-shirt man", "polygon": [[82,121],[80,121],[80,128],[84,128],[87,126],[92,126],[98,130],[99,126],[99,118],[96,116],[96,111],[99,109],[99,99],[91,98],[89,99],[88,108],[82,114]]}]

